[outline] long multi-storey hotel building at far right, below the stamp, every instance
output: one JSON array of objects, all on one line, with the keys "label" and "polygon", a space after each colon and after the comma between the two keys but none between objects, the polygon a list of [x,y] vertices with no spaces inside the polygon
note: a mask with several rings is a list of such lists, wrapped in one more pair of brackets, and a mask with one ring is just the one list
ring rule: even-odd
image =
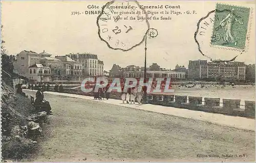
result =
[{"label": "long multi-storey hotel building at far right, below the stamp", "polygon": [[208,62],[206,60],[189,61],[188,78],[245,80],[244,62]]}]

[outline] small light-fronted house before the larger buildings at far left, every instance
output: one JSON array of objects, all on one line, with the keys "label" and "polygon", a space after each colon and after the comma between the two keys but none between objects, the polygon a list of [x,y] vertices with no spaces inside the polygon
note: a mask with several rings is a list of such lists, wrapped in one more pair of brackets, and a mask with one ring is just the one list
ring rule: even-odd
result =
[{"label": "small light-fronted house before the larger buildings at far left", "polygon": [[[42,64],[33,64],[28,67],[30,83],[51,82],[51,68]],[[33,82],[32,82],[33,81]]]}]

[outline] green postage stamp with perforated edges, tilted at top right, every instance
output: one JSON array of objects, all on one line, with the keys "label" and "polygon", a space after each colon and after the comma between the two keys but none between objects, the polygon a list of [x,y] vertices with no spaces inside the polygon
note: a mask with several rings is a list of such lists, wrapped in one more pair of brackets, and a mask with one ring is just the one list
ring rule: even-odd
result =
[{"label": "green postage stamp with perforated edges, tilted at top right", "polygon": [[211,45],[244,49],[250,8],[217,4]]}]

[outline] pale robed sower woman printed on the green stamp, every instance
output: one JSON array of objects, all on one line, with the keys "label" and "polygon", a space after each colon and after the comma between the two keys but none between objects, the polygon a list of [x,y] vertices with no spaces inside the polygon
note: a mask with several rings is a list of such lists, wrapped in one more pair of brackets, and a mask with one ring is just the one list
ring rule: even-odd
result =
[{"label": "pale robed sower woman printed on the green stamp", "polygon": [[243,24],[240,20],[238,20],[239,16],[234,12],[234,9],[231,9],[231,12],[227,14],[224,19],[220,22],[220,26],[222,28],[225,28],[224,32],[224,44],[228,43],[234,43],[234,45],[237,45],[237,38],[236,35],[232,32],[232,25],[234,22],[239,22],[240,24]]}]

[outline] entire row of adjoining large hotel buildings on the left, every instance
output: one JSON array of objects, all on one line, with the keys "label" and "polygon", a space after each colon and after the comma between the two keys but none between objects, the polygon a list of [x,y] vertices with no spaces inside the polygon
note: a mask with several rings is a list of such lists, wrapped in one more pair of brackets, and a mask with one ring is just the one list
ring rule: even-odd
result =
[{"label": "entire row of adjoining large hotel buildings on the left", "polygon": [[41,53],[23,50],[15,57],[14,72],[27,77],[31,83],[79,81],[87,76],[104,75],[104,63],[97,55],[70,53],[51,56],[45,50]]}]

